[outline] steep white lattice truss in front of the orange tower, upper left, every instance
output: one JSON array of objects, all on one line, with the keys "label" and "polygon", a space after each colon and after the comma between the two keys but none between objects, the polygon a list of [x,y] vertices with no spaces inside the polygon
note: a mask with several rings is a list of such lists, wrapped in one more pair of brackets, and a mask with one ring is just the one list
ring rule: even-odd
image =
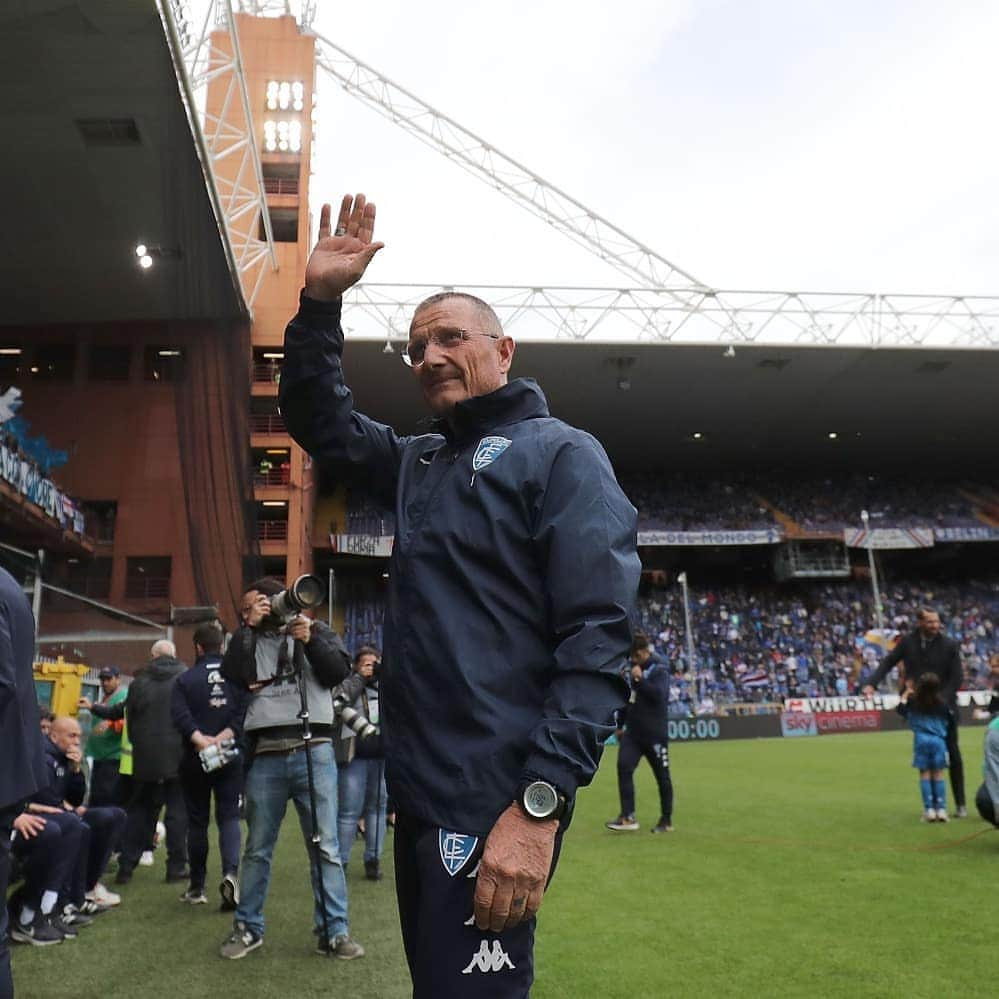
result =
[{"label": "steep white lattice truss in front of the orange tower, upper left", "polygon": [[[277,255],[236,20],[227,0],[199,5],[197,22],[191,5],[184,0],[157,0],[157,4],[225,236],[230,267],[238,275],[243,298],[252,310],[268,264],[271,270],[277,269]],[[216,31],[228,35],[229,51],[213,43]],[[224,81],[225,91],[219,112],[209,114],[205,92],[215,80]],[[219,169],[223,162],[225,169]]]}]

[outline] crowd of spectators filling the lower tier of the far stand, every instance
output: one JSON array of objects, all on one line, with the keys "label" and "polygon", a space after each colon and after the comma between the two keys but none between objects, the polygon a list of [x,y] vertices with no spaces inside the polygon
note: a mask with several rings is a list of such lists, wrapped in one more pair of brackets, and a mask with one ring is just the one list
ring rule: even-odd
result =
[{"label": "crowd of spectators filling the lower tier of the far stand", "polygon": [[[999,653],[999,583],[890,585],[883,601],[890,633],[911,629],[923,604],[938,609],[961,643],[965,687],[987,687]],[[692,662],[679,587],[643,598],[635,622],[672,665],[677,714],[855,693],[890,641],[874,630],[870,587],[855,582],[694,588],[690,617]]]}]

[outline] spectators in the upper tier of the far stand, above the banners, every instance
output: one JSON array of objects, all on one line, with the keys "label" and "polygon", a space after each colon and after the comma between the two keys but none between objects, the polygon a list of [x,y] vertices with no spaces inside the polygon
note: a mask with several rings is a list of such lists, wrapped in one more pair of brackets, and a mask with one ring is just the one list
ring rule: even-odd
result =
[{"label": "spectators in the upper tier of the far stand, above the banners", "polygon": [[[689,473],[622,475],[638,509],[640,531],[765,530],[780,526],[777,513],[808,531],[860,528],[860,511],[878,527],[980,527],[979,497],[999,509],[999,486],[916,475],[864,472],[801,476],[771,472],[725,479]],[[347,497],[348,534],[390,535],[395,516],[361,490]]]}]

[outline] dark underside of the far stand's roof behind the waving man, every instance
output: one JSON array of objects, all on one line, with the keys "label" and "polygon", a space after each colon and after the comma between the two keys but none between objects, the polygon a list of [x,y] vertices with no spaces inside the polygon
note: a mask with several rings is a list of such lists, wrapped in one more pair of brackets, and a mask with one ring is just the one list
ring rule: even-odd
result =
[{"label": "dark underside of the far stand's roof behind the waving man", "polygon": [[[344,362],[359,408],[420,430],[426,411],[398,352],[348,340]],[[909,467],[991,478],[999,453],[997,351],[739,346],[731,355],[717,345],[525,340],[513,373],[537,378],[554,415],[594,433],[622,469]]]}]

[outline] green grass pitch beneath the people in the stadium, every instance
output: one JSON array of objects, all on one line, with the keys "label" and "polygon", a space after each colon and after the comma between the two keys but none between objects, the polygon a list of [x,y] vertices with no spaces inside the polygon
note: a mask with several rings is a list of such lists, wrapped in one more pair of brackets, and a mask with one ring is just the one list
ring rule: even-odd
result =
[{"label": "green grass pitch beneath the people in the stadium", "polygon": [[[969,795],[983,729],[962,732]],[[541,910],[535,999],[917,997],[989,991],[999,833],[978,817],[924,825],[908,733],[674,744],[676,831],[636,773],[642,829],[612,833],[615,753],[582,792]],[[949,789],[948,789],[949,793]],[[388,853],[391,852],[389,844]],[[223,961],[229,918],[177,901],[163,858],[115,912],[58,947],[16,946],[21,999],[409,995],[390,880],[350,870],[360,961],[312,952],[298,823],[287,816],[264,946]],[[387,867],[390,867],[390,856]],[[209,876],[217,853],[212,844]],[[390,876],[390,872],[389,872]]]}]

